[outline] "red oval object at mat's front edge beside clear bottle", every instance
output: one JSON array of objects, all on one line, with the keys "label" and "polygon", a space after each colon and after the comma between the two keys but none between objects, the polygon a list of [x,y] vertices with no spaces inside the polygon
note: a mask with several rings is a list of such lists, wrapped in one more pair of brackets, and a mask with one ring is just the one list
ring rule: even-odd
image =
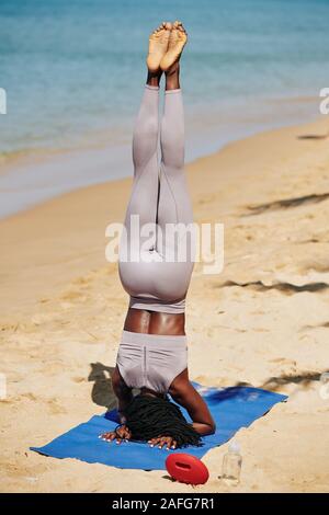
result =
[{"label": "red oval object at mat's front edge beside clear bottle", "polygon": [[209,478],[206,466],[195,456],[185,453],[175,453],[166,459],[168,473],[180,481],[189,484],[204,484]]}]

